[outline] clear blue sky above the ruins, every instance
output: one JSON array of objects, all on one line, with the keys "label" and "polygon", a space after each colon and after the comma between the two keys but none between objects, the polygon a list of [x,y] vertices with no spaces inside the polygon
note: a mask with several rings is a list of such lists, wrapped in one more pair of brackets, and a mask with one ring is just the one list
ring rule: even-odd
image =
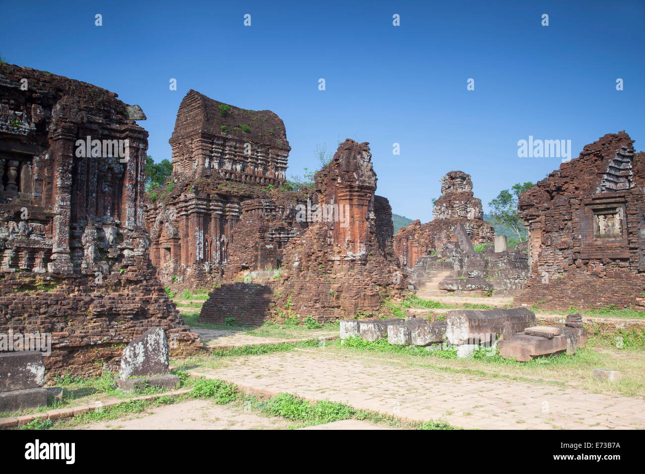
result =
[{"label": "clear blue sky above the ruins", "polygon": [[316,146],[368,141],[377,193],[426,222],[448,171],[470,173],[486,207],[557,168],[559,158],[517,156],[529,135],[570,139],[577,157],[626,130],[645,150],[644,26],[643,0],[0,0],[0,54],[141,105],[157,161],[170,158],[190,89],[280,115],[291,174],[317,164]]}]

